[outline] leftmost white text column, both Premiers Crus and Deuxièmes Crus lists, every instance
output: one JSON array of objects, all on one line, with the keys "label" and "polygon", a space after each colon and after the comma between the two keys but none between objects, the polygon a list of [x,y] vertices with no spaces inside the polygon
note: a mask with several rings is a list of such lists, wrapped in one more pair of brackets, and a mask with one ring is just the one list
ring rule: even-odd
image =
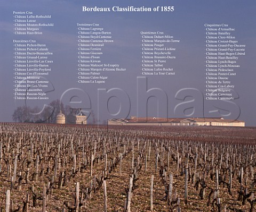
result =
[{"label": "leftmost white text column, both Premiers Crus and Deuxi\u00e8mes Crus lists", "polygon": [[[52,71],[53,52],[35,39],[43,28],[53,27],[49,14],[13,11],[13,71],[15,100],[45,100],[50,86],[46,76]],[[32,37],[33,36],[33,37]]]}]

